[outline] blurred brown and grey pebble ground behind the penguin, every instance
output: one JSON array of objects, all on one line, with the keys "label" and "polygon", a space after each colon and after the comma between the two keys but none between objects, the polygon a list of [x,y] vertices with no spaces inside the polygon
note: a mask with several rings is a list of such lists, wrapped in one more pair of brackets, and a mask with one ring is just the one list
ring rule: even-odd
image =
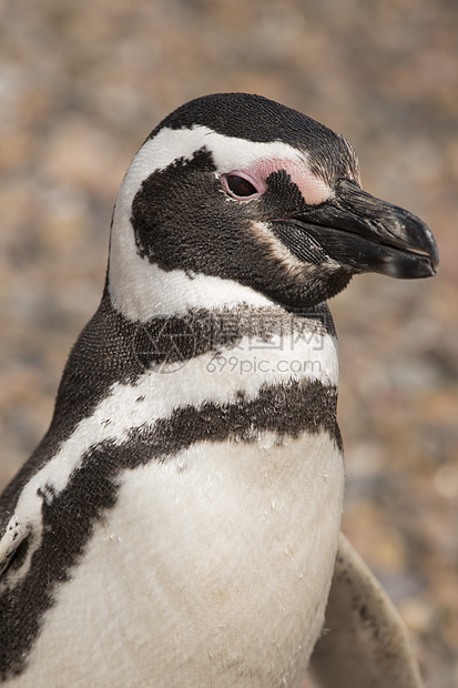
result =
[{"label": "blurred brown and grey pebble ground behind the penguin", "polygon": [[344,530],[404,615],[427,687],[457,686],[458,3],[3,0],[0,53],[1,485],[48,426],[151,129],[216,91],[302,110],[439,244],[436,279],[357,277],[330,305]]}]

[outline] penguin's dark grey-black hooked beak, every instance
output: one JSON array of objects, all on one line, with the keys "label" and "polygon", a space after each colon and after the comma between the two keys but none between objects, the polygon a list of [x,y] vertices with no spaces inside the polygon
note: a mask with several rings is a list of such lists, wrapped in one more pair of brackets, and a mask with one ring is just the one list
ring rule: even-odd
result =
[{"label": "penguin's dark grey-black hooked beak", "polygon": [[436,274],[439,255],[430,229],[413,213],[340,180],[332,200],[289,217],[326,254],[352,272],[398,279]]}]

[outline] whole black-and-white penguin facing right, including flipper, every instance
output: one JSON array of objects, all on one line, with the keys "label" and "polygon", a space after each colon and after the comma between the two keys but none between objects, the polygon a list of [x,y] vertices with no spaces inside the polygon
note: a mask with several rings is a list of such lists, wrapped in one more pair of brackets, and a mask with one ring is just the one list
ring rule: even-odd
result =
[{"label": "whole black-and-white penguin facing right, including flipper", "polygon": [[279,688],[309,668],[419,686],[339,537],[326,300],[437,262],[421,220],[364,192],[350,145],[308,117],[243,93],[166,117],[122,183],[50,429],[1,498],[1,680]]}]

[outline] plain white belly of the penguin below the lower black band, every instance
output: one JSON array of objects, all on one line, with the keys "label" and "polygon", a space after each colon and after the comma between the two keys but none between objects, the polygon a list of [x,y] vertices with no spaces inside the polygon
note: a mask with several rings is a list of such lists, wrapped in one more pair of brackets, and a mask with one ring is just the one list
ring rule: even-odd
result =
[{"label": "plain white belly of the penguin below the lower black band", "polygon": [[299,685],[340,526],[329,437],[200,443],[122,483],[18,685]]}]

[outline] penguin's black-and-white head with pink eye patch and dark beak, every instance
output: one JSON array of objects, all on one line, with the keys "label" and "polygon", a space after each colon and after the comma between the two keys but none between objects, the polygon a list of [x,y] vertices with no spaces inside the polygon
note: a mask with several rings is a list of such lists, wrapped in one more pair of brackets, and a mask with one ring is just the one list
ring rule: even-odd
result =
[{"label": "penguin's black-and-white head with pink eye patch and dark beak", "polygon": [[425,277],[437,264],[420,219],[362,190],[344,138],[265,98],[222,93],[172,112],[133,160],[113,215],[109,285],[132,306],[175,274],[210,299],[216,284],[237,285],[301,310],[354,274]]}]

